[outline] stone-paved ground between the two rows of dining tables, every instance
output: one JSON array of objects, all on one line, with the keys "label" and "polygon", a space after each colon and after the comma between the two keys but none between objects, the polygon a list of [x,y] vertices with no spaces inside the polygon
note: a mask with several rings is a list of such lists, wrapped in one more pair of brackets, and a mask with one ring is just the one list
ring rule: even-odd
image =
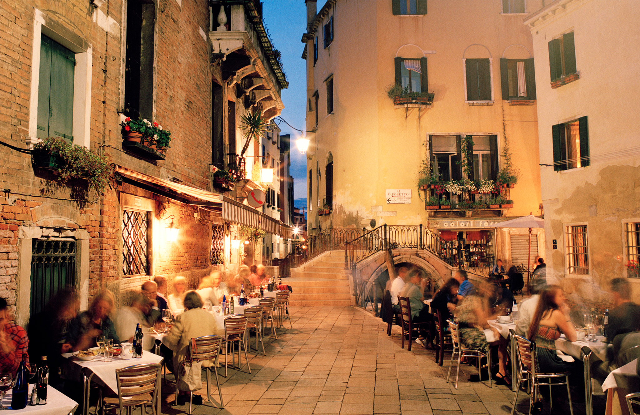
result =
[{"label": "stone-paved ground between the two rows of dining tables", "polygon": [[[278,340],[265,344],[267,356],[262,350],[256,356],[252,350],[251,374],[230,371],[227,379],[220,378],[225,409],[205,402],[195,406],[194,414],[508,414],[511,410],[509,388],[468,382],[463,371],[477,372],[465,365],[454,389],[453,382],[445,381],[450,354],[445,354],[440,368],[430,349],[414,343],[408,352],[405,343],[403,350],[398,332],[388,337],[386,324],[361,309],[300,307],[291,308],[291,313],[294,328],[278,331]],[[163,413],[187,412],[188,404],[168,405],[175,389],[173,377],[167,379]],[[215,389],[212,396],[217,402]],[[528,396],[521,396],[524,405],[518,409],[526,411]]]}]

